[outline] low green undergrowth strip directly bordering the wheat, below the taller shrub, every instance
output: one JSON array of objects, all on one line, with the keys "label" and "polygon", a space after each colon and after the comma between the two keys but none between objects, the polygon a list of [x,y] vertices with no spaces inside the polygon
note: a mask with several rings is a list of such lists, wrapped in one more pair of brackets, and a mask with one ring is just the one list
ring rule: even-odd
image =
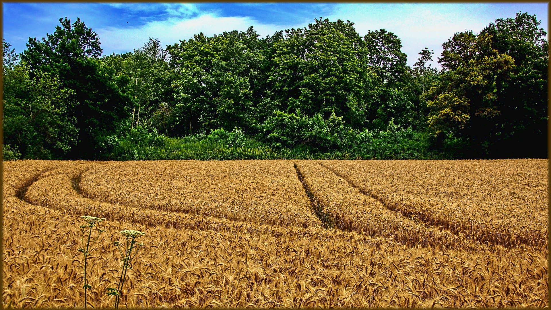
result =
[{"label": "low green undergrowth strip directly bordering the wheat, below the taller shrub", "polygon": [[[447,159],[442,150],[432,148],[430,138],[412,131],[364,131],[343,136],[333,148],[297,144],[275,146],[245,136],[238,128],[216,130],[209,135],[166,137],[156,131],[132,131],[112,138],[100,159],[117,161],[195,159]],[[453,157],[455,154],[450,154]]]}]

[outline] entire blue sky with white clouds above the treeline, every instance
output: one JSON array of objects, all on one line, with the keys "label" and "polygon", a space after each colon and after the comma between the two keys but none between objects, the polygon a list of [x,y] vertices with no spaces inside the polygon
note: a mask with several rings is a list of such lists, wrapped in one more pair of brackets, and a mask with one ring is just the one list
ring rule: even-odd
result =
[{"label": "entire blue sky with white clouds above the treeline", "polygon": [[424,47],[434,50],[454,33],[478,33],[519,11],[536,14],[548,31],[548,4],[540,3],[3,3],[3,37],[22,52],[28,38],[53,33],[61,17],[80,18],[99,36],[104,55],[138,49],[149,37],[163,45],[253,26],[261,36],[302,28],[323,17],[350,20],[363,36],[386,29],[402,40],[412,66]]}]

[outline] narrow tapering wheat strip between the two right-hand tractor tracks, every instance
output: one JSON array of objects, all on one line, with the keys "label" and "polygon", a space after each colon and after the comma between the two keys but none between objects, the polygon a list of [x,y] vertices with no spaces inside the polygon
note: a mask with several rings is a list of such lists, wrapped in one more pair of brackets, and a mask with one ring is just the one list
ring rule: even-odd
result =
[{"label": "narrow tapering wheat strip between the two right-hand tractor tracks", "polygon": [[311,161],[296,163],[306,187],[316,197],[323,212],[341,229],[354,229],[374,236],[394,238],[410,247],[437,249],[484,249],[463,234],[453,234],[410,220],[386,209],[379,201],[361,194],[330,170]]}]

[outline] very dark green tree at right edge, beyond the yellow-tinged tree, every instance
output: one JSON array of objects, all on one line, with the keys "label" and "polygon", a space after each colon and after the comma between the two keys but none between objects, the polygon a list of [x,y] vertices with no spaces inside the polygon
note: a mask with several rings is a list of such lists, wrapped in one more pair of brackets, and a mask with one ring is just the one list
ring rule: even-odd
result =
[{"label": "very dark green tree at right edge, beyond the yellow-tinged tree", "polygon": [[[496,92],[500,136],[497,154],[547,158],[548,41],[536,15],[519,12],[497,19],[481,32],[490,35],[493,48],[515,62],[512,76]],[[539,141],[539,143],[533,143]]]}]

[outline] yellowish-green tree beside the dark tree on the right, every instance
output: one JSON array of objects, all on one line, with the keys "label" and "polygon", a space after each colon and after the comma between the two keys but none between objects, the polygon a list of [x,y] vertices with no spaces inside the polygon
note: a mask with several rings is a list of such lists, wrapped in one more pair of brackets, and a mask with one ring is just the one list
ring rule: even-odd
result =
[{"label": "yellowish-green tree beside the dark tree on the right", "polygon": [[439,62],[445,71],[425,94],[429,130],[442,140],[459,137],[471,146],[471,157],[484,157],[501,133],[498,116],[515,67],[511,56],[493,49],[491,35],[455,34],[443,45]]}]

